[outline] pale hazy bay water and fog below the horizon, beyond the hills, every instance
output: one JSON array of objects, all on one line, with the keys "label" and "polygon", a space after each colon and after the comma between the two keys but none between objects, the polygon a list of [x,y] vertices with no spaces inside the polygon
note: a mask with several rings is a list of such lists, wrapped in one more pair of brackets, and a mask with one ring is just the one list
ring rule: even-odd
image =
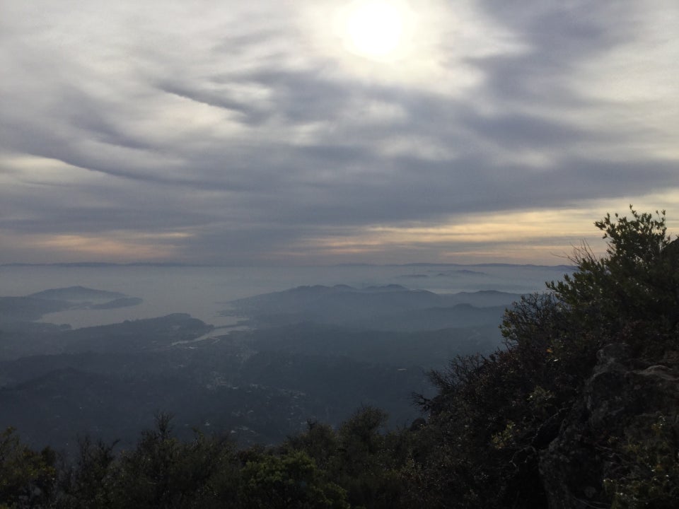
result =
[{"label": "pale hazy bay water and fog below the horizon, beyond the hills", "polygon": [[406,265],[337,267],[153,267],[4,266],[0,296],[27,296],[49,288],[86,286],[144,299],[141,305],[109,310],[51,313],[43,322],[89,327],[187,312],[216,327],[233,324],[220,312],[230,300],[302,285],[346,284],[356,288],[400,284],[435,293],[497,290],[543,291],[569,267],[531,265]]}]

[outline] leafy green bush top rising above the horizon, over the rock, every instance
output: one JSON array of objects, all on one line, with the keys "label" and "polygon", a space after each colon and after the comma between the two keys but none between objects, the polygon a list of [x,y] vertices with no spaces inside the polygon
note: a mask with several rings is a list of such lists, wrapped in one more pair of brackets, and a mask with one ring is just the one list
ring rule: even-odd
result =
[{"label": "leafy green bush top rising above the horizon, over the rock", "polygon": [[599,343],[625,334],[643,351],[646,336],[654,334],[658,346],[679,322],[679,244],[666,234],[665,211],[654,218],[629,209],[630,219],[607,214],[595,223],[608,240],[605,257],[584,245],[573,257],[578,270],[547,287]]}]

